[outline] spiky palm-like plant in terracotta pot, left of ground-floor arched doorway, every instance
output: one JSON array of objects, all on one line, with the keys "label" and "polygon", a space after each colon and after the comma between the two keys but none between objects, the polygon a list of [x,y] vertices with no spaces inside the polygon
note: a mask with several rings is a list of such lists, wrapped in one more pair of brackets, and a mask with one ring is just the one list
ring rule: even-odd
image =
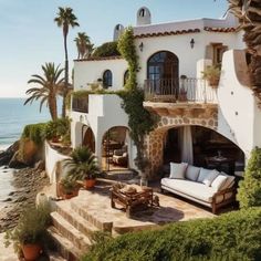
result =
[{"label": "spiky palm-like plant in terracotta pot, left of ground-floor arched doorway", "polygon": [[64,159],[64,161],[69,168],[67,176],[72,180],[82,180],[86,189],[94,187],[100,168],[96,157],[88,147],[75,148],[71,154],[71,158]]}]

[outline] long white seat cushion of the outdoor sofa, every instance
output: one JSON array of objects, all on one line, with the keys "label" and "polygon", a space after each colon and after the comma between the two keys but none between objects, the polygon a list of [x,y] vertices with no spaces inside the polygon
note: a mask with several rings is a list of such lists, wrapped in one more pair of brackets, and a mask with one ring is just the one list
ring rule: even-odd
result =
[{"label": "long white seat cushion of the outdoor sofa", "polygon": [[205,202],[212,202],[215,189],[186,179],[163,178],[161,185]]}]

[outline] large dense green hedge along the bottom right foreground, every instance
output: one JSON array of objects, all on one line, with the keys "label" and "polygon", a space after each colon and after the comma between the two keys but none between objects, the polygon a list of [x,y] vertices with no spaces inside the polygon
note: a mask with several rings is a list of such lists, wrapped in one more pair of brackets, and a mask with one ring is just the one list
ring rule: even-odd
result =
[{"label": "large dense green hedge along the bottom right foreground", "polygon": [[261,260],[261,209],[175,222],[94,244],[83,261]]}]

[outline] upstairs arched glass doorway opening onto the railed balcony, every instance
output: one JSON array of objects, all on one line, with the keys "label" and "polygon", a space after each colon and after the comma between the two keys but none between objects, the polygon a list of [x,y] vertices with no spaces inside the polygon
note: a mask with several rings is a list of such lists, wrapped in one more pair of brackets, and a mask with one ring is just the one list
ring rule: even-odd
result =
[{"label": "upstairs arched glass doorway opening onto the railed balcony", "polygon": [[157,95],[178,95],[179,61],[176,54],[160,51],[147,61],[147,87]]}]

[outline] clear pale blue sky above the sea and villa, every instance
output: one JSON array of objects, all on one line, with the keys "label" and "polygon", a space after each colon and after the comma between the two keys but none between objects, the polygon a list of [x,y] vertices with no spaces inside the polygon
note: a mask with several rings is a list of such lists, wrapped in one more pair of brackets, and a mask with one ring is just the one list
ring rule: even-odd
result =
[{"label": "clear pale blue sky above the sea and villa", "polygon": [[76,58],[74,38],[86,32],[97,46],[112,41],[117,23],[135,25],[147,7],[153,23],[221,18],[227,0],[0,0],[0,97],[25,97],[28,80],[45,62],[64,64],[62,30],[53,22],[58,7],[71,7],[80,28],[70,30],[70,67]]}]

